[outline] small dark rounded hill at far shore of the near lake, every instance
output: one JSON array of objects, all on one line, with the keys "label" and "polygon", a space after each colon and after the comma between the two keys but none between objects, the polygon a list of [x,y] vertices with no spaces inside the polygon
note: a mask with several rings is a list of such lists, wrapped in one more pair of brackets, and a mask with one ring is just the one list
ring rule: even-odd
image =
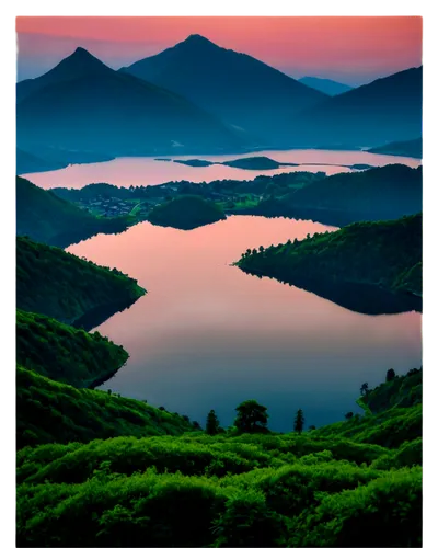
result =
[{"label": "small dark rounded hill at far shore of the near lake", "polygon": [[148,215],[154,225],[191,230],[226,219],[222,209],[200,196],[181,196],[155,206]]}]

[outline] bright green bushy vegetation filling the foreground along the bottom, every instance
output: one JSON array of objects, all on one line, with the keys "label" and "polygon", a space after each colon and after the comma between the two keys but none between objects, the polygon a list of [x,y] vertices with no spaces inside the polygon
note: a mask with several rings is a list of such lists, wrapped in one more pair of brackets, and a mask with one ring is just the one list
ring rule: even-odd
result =
[{"label": "bright green bushy vegetation filling the foreground along the bottom", "polygon": [[[395,379],[369,397],[391,392],[391,401],[378,409],[395,402],[410,413],[400,404],[407,385],[420,381],[418,375]],[[54,387],[61,385],[49,385],[46,397],[54,401],[59,398]],[[107,401],[100,412],[119,401],[99,398]],[[370,419],[360,421],[366,437],[372,433]],[[427,522],[422,441],[392,449],[327,429],[25,447],[15,472],[20,545],[376,546],[378,530],[379,546],[418,546]]]}]

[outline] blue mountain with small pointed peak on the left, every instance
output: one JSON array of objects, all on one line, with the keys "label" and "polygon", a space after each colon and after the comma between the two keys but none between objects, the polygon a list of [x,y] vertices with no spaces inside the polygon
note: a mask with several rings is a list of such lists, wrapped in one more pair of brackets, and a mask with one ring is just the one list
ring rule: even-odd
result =
[{"label": "blue mountain with small pointed peak on the left", "polygon": [[[24,91],[23,91],[24,89]],[[18,146],[111,156],[238,151],[242,139],[188,100],[78,48],[16,91]]]}]

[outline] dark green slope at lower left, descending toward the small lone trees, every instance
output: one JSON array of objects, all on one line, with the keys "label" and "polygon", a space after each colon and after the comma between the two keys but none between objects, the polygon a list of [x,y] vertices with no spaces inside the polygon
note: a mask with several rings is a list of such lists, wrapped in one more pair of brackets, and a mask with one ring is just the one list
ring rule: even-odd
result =
[{"label": "dark green slope at lower left, descending toward the small lone trees", "polygon": [[183,418],[145,402],[73,388],[21,365],[15,368],[15,386],[18,447],[122,435],[178,435],[193,430]]}]

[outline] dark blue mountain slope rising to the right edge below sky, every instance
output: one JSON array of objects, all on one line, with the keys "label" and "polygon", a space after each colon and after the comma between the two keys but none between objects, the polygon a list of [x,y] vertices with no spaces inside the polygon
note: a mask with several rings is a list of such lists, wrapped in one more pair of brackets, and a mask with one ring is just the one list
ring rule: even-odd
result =
[{"label": "dark blue mountain slope rising to the right edge below sky", "polygon": [[295,118],[307,147],[372,147],[422,130],[423,68],[380,78],[308,109]]}]

